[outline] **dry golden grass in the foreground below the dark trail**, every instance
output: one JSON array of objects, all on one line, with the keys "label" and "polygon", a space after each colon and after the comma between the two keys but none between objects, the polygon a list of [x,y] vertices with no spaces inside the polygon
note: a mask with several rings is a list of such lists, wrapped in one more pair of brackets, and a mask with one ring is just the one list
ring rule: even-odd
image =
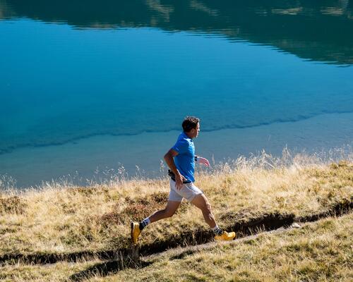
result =
[{"label": "dry golden grass in the foreground below the dark trail", "polygon": [[[302,228],[262,233],[231,243],[216,243],[193,252],[170,250],[146,258],[140,269],[110,269],[88,274],[85,281],[352,281],[353,214],[331,217]],[[6,264],[1,281],[70,281],[104,262],[59,262],[51,265]]]}]

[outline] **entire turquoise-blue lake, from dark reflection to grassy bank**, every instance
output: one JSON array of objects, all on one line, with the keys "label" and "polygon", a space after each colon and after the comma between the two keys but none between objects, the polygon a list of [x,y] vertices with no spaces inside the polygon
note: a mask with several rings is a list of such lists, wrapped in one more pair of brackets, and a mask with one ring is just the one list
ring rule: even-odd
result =
[{"label": "entire turquoise-blue lake, from dark reflection to grassy bank", "polygon": [[18,187],[157,176],[187,115],[216,161],[352,144],[352,1],[127,2],[0,0],[0,174]]}]

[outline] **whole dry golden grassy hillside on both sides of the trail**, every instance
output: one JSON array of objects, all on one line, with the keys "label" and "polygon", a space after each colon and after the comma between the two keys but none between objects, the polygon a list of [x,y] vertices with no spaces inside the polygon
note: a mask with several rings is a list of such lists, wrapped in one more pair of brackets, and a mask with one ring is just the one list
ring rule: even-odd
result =
[{"label": "whole dry golden grassy hillside on both sides of the trail", "polygon": [[[219,225],[229,230],[245,232],[242,226],[263,219],[312,221],[318,214],[340,207],[337,204],[352,207],[352,156],[335,163],[313,156],[284,155],[275,159],[262,154],[199,171],[196,179],[196,185],[208,196]],[[305,223],[304,228],[284,233],[266,233],[230,244],[210,243],[196,250],[176,249],[146,257],[165,247],[212,241],[201,212],[188,202],[183,202],[171,219],[145,228],[139,242],[142,259],[126,264],[124,252],[119,251],[131,250],[130,222],[162,209],[168,191],[167,178],[120,179],[86,188],[52,183],[39,190],[3,190],[0,278],[66,281],[80,273],[97,281],[352,278],[351,214]],[[109,254],[109,262],[102,260],[104,254]],[[38,264],[43,260],[56,263]],[[121,266],[138,269],[123,267],[118,271]]]}]

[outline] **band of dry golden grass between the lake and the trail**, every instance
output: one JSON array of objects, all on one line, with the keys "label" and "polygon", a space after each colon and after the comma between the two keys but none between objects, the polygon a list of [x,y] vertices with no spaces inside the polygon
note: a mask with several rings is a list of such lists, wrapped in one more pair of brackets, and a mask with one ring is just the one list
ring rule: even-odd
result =
[{"label": "band of dry golden grass between the lake and the trail", "polygon": [[[325,164],[297,155],[263,154],[201,171],[196,185],[208,196],[220,226],[268,212],[307,215],[351,201],[353,163]],[[88,188],[52,184],[0,194],[0,255],[116,250],[129,245],[129,223],[164,207],[169,180],[119,180]],[[201,212],[183,203],[172,217],[143,232],[140,244],[181,231],[208,230]]]}]

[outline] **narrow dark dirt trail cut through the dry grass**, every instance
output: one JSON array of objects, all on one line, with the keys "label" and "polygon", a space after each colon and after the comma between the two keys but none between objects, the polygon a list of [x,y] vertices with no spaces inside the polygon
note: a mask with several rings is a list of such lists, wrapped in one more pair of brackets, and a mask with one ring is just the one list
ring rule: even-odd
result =
[{"label": "narrow dark dirt trail cut through the dry grass", "polygon": [[[249,238],[249,235],[254,235],[263,231],[273,231],[278,228],[288,228],[293,223],[304,223],[317,221],[327,216],[341,216],[342,214],[347,214],[353,208],[353,202],[340,202],[330,207],[325,212],[320,212],[317,214],[311,214],[309,216],[299,216],[296,217],[294,214],[263,214],[256,219],[251,219],[246,222],[236,222],[232,226],[227,226],[227,230],[235,231],[237,233],[237,240],[240,238]],[[206,244],[206,245],[205,245]],[[117,260],[119,259],[121,263],[125,261],[130,264],[140,264],[140,257],[148,257],[156,255],[160,252],[165,252],[166,250],[187,247],[190,246],[200,246],[213,245],[213,233],[209,231],[198,231],[191,232],[186,231],[185,233],[179,234],[176,238],[166,240],[164,242],[151,243],[150,245],[142,245],[140,247],[131,248],[121,248],[119,250],[105,250],[102,252],[72,252],[66,254],[6,254],[0,257],[0,263],[29,263],[29,264],[53,264],[56,262],[66,261],[66,262],[80,262],[83,259],[101,259],[101,260]],[[189,250],[189,249],[188,249]],[[190,249],[191,250],[191,249]]]}]

